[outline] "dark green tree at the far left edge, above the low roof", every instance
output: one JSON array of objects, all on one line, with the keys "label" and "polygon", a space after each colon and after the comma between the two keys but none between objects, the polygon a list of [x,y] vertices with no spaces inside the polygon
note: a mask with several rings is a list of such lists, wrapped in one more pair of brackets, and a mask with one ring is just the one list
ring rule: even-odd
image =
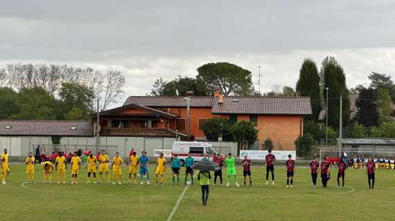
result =
[{"label": "dark green tree at the far left edge, above the low roof", "polygon": [[0,88],[0,119],[9,119],[19,112],[17,97],[11,88]]}]

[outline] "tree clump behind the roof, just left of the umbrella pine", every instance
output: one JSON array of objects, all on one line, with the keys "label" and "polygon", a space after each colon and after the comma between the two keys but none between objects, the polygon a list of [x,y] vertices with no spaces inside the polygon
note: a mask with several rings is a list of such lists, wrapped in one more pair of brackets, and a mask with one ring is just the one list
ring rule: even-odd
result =
[{"label": "tree clump behind the roof, just left of the umbrella pine", "polygon": [[176,96],[175,90],[178,90],[180,96],[186,95],[187,91],[193,91],[195,96],[210,95],[211,90],[207,88],[206,84],[200,78],[181,77],[173,79],[172,81],[164,81],[159,78],[152,85],[152,96]]}]

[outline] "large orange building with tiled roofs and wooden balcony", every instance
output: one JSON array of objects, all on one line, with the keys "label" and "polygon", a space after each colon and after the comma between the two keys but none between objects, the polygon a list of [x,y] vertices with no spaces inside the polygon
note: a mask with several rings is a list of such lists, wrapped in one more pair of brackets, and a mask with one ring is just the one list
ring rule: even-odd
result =
[{"label": "large orange building with tiled roofs and wooden balcony", "polygon": [[295,140],[303,135],[303,117],[310,114],[309,97],[238,97],[220,93],[212,97],[131,96],[123,106],[100,112],[100,134],[175,137],[177,133],[186,139],[189,132],[190,140],[206,140],[204,122],[224,117],[231,122],[254,122],[259,132],[252,148],[263,148],[269,137],[275,150],[295,150]]}]

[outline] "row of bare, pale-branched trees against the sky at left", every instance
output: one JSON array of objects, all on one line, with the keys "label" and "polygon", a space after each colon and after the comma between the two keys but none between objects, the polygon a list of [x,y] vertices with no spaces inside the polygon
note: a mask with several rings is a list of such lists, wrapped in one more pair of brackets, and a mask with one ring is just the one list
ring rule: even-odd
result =
[{"label": "row of bare, pale-branched trees against the sky at left", "polygon": [[118,70],[103,73],[93,68],[80,68],[58,64],[8,64],[0,68],[0,88],[21,91],[42,88],[51,96],[58,96],[64,83],[86,86],[94,99],[103,100],[100,108],[123,95],[125,77]]}]

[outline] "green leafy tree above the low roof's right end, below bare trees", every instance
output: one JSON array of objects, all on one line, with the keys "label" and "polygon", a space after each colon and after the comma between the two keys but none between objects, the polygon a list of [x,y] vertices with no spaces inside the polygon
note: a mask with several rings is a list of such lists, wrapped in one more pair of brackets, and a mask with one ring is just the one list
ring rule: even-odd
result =
[{"label": "green leafy tree above the low roof's right end, below bare trees", "polygon": [[[94,92],[87,86],[76,83],[63,83],[59,97],[60,101],[62,101],[62,109],[66,115],[69,115],[74,107],[78,107],[82,111],[81,119],[89,119],[91,113],[93,113]],[[74,110],[72,113],[77,114],[78,111]]]}]

